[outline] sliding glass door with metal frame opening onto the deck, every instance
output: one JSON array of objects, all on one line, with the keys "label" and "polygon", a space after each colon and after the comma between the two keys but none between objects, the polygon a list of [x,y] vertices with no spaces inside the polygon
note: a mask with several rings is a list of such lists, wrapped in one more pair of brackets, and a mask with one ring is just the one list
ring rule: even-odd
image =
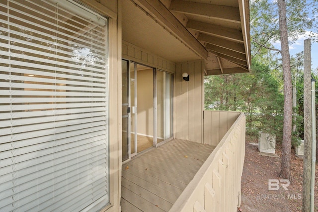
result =
[{"label": "sliding glass door with metal frame opening onto the deck", "polygon": [[122,159],[172,137],[172,74],[122,60]]}]

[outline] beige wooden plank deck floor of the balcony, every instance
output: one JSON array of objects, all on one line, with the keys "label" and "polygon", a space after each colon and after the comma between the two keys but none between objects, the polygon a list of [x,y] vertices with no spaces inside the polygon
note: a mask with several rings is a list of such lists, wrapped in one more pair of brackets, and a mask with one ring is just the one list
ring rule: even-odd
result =
[{"label": "beige wooden plank deck floor of the balcony", "polygon": [[121,211],[169,211],[214,148],[174,139],[124,164]]}]

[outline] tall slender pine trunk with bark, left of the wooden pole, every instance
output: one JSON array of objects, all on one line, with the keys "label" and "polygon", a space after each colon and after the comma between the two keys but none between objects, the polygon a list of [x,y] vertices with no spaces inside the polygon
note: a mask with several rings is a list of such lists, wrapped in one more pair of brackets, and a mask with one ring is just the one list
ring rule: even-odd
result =
[{"label": "tall slender pine trunk with bark, left of the wooden pole", "polygon": [[284,75],[284,125],[282,142],[282,166],[280,176],[290,180],[290,158],[292,145],[292,118],[293,118],[293,94],[292,94],[292,74],[290,68],[290,54],[288,46],[286,2],[277,0],[279,10],[279,30],[282,48],[282,62]]}]

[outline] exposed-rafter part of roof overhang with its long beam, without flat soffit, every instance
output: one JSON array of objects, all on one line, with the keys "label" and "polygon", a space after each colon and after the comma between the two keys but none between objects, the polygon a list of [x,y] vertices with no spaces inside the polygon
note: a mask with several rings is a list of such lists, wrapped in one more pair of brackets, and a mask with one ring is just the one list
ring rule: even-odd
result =
[{"label": "exposed-rafter part of roof overhang with its long beam, without flat soffit", "polygon": [[203,58],[206,75],[249,72],[248,0],[132,1]]}]

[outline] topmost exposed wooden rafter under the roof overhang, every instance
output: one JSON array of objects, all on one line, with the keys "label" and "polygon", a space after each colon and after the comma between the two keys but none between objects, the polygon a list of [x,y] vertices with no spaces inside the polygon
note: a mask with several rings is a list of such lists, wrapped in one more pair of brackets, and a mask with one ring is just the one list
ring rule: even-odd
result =
[{"label": "topmost exposed wooden rafter under the roof overhang", "polygon": [[239,8],[185,0],[172,0],[169,10],[240,23]]}]

